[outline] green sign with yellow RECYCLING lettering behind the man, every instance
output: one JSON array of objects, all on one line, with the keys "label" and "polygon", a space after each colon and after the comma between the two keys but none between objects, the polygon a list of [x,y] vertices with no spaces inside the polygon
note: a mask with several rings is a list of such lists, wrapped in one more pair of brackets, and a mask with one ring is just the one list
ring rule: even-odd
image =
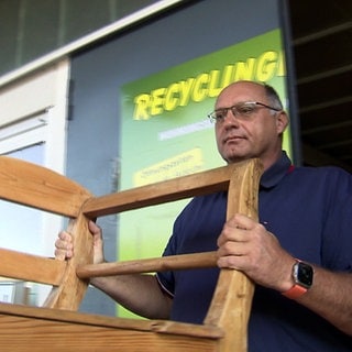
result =
[{"label": "green sign with yellow RECYCLING lettering behind the man", "polygon": [[[242,79],[270,84],[286,105],[282,47],[275,30],[123,86],[121,189],[223,166],[207,113],[222,88]],[[290,154],[289,131],[284,141]],[[161,256],[188,201],[122,213],[118,260]]]}]

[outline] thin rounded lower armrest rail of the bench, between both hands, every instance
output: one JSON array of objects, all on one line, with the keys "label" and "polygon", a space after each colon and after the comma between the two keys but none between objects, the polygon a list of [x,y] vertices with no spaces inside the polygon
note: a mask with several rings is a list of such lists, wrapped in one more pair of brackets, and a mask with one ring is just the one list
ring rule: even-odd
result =
[{"label": "thin rounded lower armrest rail of the bench, between both hands", "polygon": [[88,278],[97,276],[215,267],[217,265],[217,252],[204,252],[116,263],[86,264],[79,265],[76,270],[76,274],[80,278]]}]

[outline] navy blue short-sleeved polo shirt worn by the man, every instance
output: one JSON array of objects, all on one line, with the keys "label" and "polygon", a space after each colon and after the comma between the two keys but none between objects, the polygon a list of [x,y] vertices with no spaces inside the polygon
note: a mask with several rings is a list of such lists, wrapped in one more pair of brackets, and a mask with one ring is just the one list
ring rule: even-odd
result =
[{"label": "navy blue short-sleeved polo shirt worn by the man", "polygon": [[[260,221],[293,256],[352,273],[352,176],[337,167],[293,167],[282,158],[261,178]],[[217,250],[227,194],[196,197],[174,223],[164,255]],[[202,323],[218,268],[157,273],[174,297],[172,320]],[[352,351],[352,338],[279,293],[256,286],[249,351]]]}]

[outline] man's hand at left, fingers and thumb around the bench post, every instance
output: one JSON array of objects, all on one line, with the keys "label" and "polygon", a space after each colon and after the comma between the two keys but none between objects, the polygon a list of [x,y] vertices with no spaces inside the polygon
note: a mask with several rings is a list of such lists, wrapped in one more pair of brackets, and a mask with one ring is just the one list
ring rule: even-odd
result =
[{"label": "man's hand at left, fingers and thumb around the bench post", "polygon": [[[88,223],[89,231],[94,237],[94,263],[103,263],[103,242],[101,229],[94,222]],[[59,261],[65,261],[73,257],[75,254],[73,238],[67,231],[62,231],[55,242],[55,257]]]}]

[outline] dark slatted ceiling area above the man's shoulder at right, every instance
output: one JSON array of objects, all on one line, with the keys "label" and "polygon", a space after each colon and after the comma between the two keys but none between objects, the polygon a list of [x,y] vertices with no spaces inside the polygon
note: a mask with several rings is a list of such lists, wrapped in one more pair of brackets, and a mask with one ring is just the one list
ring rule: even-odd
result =
[{"label": "dark slatted ceiling area above the man's shoulder at right", "polygon": [[352,173],[352,1],[288,3],[302,162]]}]

